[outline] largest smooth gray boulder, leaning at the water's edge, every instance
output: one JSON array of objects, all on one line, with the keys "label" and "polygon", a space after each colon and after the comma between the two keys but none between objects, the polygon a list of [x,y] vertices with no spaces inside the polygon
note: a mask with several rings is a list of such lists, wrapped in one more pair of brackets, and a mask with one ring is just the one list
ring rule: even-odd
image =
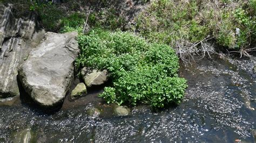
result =
[{"label": "largest smooth gray boulder, leaning at the water's edge", "polygon": [[25,91],[39,105],[51,107],[63,102],[79,53],[76,36],[77,32],[45,33],[45,39],[19,68],[18,77]]}]

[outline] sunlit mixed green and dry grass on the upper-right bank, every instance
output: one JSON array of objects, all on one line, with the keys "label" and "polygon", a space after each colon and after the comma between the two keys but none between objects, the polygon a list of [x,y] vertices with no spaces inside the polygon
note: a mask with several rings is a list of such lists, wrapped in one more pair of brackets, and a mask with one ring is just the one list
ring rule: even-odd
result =
[{"label": "sunlit mixed green and dry grass on the upper-right bank", "polygon": [[[250,47],[255,38],[255,1],[228,3],[174,2],[159,0],[136,18],[136,31],[149,41],[175,47],[213,37],[223,48]],[[236,33],[236,29],[240,33]]]}]

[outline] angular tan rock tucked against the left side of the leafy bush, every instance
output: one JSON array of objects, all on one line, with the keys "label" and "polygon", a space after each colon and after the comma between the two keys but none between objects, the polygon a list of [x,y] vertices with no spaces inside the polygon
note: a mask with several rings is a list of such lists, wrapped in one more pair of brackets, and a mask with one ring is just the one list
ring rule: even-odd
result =
[{"label": "angular tan rock tucked against the left side of the leafy bush", "polygon": [[81,70],[81,75],[87,87],[101,85],[107,81],[107,70],[99,71],[96,69],[90,70],[84,67]]}]

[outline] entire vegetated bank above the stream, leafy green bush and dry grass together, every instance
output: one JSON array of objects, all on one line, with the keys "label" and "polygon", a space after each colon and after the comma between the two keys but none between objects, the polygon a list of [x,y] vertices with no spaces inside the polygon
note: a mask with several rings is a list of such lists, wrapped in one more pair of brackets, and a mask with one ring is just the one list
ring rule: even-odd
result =
[{"label": "entire vegetated bank above the stream, leafy green bush and dry grass together", "polygon": [[255,50],[255,0],[8,3],[17,17],[36,12],[47,31],[78,32],[75,66],[109,72],[111,84],[100,95],[107,103],[177,104],[187,87],[179,58],[229,51],[253,59]]}]

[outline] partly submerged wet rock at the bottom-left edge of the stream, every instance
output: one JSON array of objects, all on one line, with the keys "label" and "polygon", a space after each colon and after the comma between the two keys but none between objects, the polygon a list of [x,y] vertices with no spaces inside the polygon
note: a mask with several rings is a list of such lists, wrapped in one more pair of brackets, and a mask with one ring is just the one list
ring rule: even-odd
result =
[{"label": "partly submerged wet rock at the bottom-left edge of the stream", "polygon": [[14,142],[28,143],[31,142],[31,138],[31,130],[30,128],[26,128],[15,135]]}]

